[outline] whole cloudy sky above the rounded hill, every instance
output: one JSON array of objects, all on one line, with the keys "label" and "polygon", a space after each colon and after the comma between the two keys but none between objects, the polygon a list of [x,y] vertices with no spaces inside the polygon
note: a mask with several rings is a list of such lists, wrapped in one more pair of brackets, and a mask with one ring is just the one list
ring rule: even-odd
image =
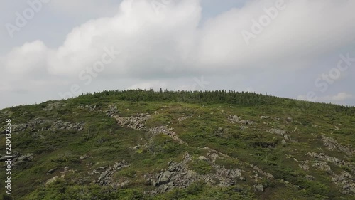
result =
[{"label": "whole cloudy sky above the rounded hill", "polygon": [[0,1],[0,109],[102,90],[355,105],[355,1]]}]

